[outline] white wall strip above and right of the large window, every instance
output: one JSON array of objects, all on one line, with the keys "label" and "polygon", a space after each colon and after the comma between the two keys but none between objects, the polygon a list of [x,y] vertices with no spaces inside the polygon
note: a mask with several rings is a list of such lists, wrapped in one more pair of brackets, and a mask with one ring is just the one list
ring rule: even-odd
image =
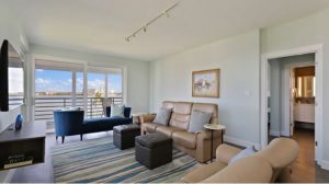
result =
[{"label": "white wall strip above and right of the large window", "polygon": [[127,105],[133,112],[149,111],[149,62],[123,59],[107,55],[80,53],[75,50],[31,45],[34,56],[50,56],[70,60],[87,61],[91,66],[125,67],[127,71]]}]

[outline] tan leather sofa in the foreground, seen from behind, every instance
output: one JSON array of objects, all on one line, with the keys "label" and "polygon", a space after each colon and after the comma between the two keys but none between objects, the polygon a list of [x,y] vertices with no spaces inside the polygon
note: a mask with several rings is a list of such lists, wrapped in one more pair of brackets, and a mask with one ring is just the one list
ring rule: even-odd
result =
[{"label": "tan leather sofa in the foreground, seen from behind", "polygon": [[186,174],[186,183],[273,183],[290,182],[291,165],[297,159],[298,145],[290,138],[276,138],[263,150],[228,164],[241,150],[220,145],[216,161]]}]

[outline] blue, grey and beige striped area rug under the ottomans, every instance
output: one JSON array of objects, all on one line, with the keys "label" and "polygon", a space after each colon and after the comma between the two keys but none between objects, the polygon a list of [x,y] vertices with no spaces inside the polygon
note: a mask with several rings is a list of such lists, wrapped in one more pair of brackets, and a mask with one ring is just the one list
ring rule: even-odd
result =
[{"label": "blue, grey and beige striped area rug under the ottomans", "polygon": [[112,138],[52,148],[55,182],[60,183],[177,183],[196,166],[192,157],[173,150],[173,160],[148,170],[135,160],[135,149],[120,150]]}]

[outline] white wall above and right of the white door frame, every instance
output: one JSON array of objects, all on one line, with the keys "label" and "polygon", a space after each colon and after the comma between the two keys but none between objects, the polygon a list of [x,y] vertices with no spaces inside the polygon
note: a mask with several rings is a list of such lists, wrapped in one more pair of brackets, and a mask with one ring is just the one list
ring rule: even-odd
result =
[{"label": "white wall above and right of the white door frame", "polygon": [[324,45],[324,162],[329,169],[329,9],[325,9],[311,16],[300,19],[286,24],[261,31],[261,50],[271,53],[283,49],[297,48],[302,46],[322,44]]}]

